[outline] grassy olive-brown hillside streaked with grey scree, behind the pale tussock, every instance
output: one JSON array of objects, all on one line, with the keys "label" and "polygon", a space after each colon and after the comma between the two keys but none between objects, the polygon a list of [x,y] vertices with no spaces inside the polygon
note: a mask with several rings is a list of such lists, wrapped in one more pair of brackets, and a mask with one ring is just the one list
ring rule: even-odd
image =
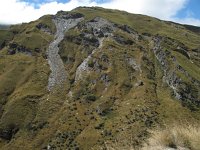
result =
[{"label": "grassy olive-brown hillside streaked with grey scree, behind the pale tussock", "polygon": [[0,30],[0,149],[140,149],[198,124],[199,31],[99,7]]}]

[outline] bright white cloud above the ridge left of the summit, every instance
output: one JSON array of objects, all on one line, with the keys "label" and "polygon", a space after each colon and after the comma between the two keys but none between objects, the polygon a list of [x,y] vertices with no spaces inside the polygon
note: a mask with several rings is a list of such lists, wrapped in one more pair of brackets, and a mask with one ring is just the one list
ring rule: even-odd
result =
[{"label": "bright white cloud above the ridge left of the summit", "polygon": [[0,23],[13,24],[21,22],[29,22],[45,14],[55,14],[59,10],[71,10],[82,2],[71,0],[63,4],[57,2],[49,2],[34,8],[33,4],[25,3],[18,0],[1,0],[0,3]]}]

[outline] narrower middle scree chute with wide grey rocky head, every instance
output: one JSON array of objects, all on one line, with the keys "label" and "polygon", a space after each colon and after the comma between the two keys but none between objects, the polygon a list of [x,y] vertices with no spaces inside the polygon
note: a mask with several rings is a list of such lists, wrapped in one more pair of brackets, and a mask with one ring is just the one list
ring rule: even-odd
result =
[{"label": "narrower middle scree chute with wide grey rocky head", "polygon": [[[90,31],[88,33],[83,33],[82,39],[94,39],[93,41],[96,41],[94,42],[96,44],[93,45],[94,49],[92,50],[92,53],[88,55],[88,57],[85,58],[83,62],[78,66],[76,70],[76,75],[75,75],[75,82],[80,80],[83,77],[83,74],[87,74],[90,71],[88,62],[92,58],[92,55],[96,51],[101,49],[103,45],[103,40],[105,38],[113,36],[112,33],[116,28],[115,28],[115,25],[109,22],[108,20],[101,17],[96,17],[92,19],[91,21],[86,22],[84,25],[79,26],[79,29],[86,29]],[[86,41],[90,42],[91,40],[86,40]],[[87,45],[88,42],[86,41],[83,43],[83,45]],[[98,44],[97,44],[97,41],[98,41]]]}]

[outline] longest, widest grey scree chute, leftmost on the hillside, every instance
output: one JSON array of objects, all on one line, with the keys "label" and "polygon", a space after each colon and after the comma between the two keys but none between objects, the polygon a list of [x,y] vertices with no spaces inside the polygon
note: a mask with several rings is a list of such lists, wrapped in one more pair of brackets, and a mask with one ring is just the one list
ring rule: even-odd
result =
[{"label": "longest, widest grey scree chute, leftmost on the hillside", "polygon": [[63,85],[67,78],[67,72],[65,70],[63,61],[58,54],[58,44],[63,40],[64,33],[67,30],[75,27],[82,20],[83,17],[80,15],[61,15],[61,13],[53,18],[53,22],[56,25],[57,32],[55,34],[55,39],[50,43],[47,51],[47,59],[51,69],[48,83],[49,91],[51,91],[56,85]]}]

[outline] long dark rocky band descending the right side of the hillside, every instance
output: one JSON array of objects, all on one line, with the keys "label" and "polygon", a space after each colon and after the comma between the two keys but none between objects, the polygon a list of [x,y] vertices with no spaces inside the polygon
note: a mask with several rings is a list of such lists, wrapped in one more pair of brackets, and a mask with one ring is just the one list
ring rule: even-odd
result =
[{"label": "long dark rocky band descending the right side of the hillside", "polygon": [[[153,52],[157,60],[161,64],[161,68],[164,72],[163,80],[171,87],[174,92],[175,97],[181,100],[184,105],[189,106],[190,109],[194,110],[195,106],[200,106],[200,100],[198,99],[198,89],[196,89],[192,84],[188,84],[182,80],[182,78],[177,74],[177,72],[183,73],[191,83],[197,84],[199,86],[199,81],[193,79],[181,66],[176,62],[176,58],[171,56],[168,51],[164,51],[161,46],[161,42],[164,38],[157,36],[153,39],[154,48]],[[185,55],[184,53],[183,55]],[[169,62],[168,58],[172,58],[173,61]],[[171,68],[170,63],[173,63],[176,68]]]}]

